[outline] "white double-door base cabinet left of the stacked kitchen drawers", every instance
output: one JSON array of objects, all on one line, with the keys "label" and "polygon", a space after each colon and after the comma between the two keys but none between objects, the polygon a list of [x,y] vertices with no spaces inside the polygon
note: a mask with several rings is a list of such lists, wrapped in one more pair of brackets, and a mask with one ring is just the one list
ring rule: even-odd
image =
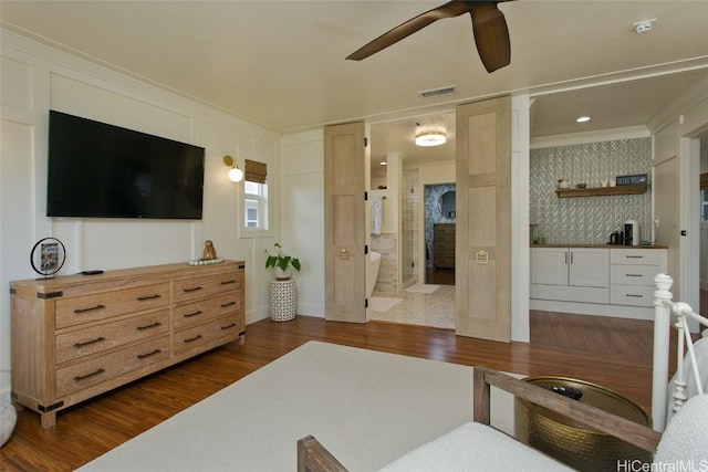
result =
[{"label": "white double-door base cabinet left of the stacked kitchen drawers", "polygon": [[608,303],[610,250],[532,248],[531,297]]}]

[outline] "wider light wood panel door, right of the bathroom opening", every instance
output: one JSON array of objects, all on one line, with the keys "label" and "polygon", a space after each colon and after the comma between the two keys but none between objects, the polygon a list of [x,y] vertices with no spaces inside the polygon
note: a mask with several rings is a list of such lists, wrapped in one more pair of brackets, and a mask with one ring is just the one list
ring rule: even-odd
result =
[{"label": "wider light wood panel door, right of the bathroom opening", "polygon": [[457,107],[456,333],[511,339],[511,98]]}]

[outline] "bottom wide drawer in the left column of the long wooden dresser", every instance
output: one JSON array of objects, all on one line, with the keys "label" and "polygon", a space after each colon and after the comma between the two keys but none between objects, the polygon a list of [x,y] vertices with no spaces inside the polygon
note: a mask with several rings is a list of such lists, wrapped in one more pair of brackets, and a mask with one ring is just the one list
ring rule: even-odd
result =
[{"label": "bottom wide drawer in the left column of the long wooden dresser", "polygon": [[94,385],[118,377],[131,370],[148,366],[169,357],[169,336],[162,336],[56,370],[56,397],[84,390]]}]

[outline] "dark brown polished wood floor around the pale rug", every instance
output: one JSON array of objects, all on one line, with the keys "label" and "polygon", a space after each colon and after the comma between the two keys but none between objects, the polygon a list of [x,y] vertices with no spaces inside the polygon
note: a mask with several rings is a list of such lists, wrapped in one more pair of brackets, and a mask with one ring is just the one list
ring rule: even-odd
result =
[{"label": "dark brown polished wood floor around the pale rug", "polygon": [[42,429],[38,415],[20,411],[14,434],[0,450],[0,470],[73,470],[310,339],[581,378],[616,390],[647,411],[650,405],[650,322],[532,312],[531,343],[503,344],[389,323],[264,319],[247,327],[244,345],[227,345],[61,411],[54,428]]}]

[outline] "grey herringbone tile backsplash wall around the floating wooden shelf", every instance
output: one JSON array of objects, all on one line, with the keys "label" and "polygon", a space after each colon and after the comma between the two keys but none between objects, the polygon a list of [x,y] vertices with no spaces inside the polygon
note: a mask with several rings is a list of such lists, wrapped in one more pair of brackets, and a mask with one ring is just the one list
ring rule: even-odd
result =
[{"label": "grey herringbone tile backsplash wall around the floating wooden shelf", "polygon": [[555,189],[559,179],[592,188],[616,176],[650,176],[650,161],[649,138],[531,149],[529,207],[535,237],[544,237],[546,244],[602,244],[625,220],[637,220],[642,240],[648,241],[650,188],[643,195],[583,198],[558,198]]}]

